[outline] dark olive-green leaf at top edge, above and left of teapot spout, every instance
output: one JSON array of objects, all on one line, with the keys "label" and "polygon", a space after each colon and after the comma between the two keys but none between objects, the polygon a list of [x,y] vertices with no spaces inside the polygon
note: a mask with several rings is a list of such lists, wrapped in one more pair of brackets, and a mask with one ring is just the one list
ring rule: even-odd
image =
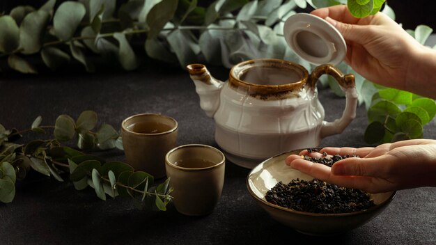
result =
[{"label": "dark olive-green leaf at top edge, above and left of teapot spout", "polygon": [[147,15],[147,24],[150,27],[147,39],[157,38],[166,22],[173,19],[178,6],[178,0],[162,0],[150,10]]}]

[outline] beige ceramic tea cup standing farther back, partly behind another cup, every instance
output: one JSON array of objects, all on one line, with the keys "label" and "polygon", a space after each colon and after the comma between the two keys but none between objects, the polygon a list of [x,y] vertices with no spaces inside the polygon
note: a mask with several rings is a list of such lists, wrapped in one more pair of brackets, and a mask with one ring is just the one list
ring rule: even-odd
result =
[{"label": "beige ceramic tea cup standing farther back, partly behind another cup", "polygon": [[165,176],[166,152],[176,147],[178,122],[160,114],[137,114],[121,123],[127,164],[155,178]]}]

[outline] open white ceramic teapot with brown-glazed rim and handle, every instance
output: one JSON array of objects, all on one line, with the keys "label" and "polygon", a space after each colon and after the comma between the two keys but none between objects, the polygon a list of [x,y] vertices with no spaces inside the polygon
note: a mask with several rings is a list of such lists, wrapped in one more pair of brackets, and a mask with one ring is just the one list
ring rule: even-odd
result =
[{"label": "open white ceramic teapot with brown-glazed rim and handle", "polygon": [[[302,37],[313,39],[316,35],[325,40],[325,35],[317,30],[320,29],[292,31],[285,38],[288,42],[302,42]],[[304,32],[308,31],[306,35]],[[300,51],[315,50],[316,61],[323,61],[320,54],[337,60],[337,47],[329,42],[325,51],[307,45]],[[307,59],[310,54],[302,56]],[[316,147],[325,136],[343,132],[355,118],[355,77],[342,74],[334,65],[319,65],[309,74],[302,65],[290,61],[256,59],[235,65],[227,82],[212,77],[205,65],[188,65],[187,70],[195,83],[201,108],[215,119],[215,141],[227,159],[240,166],[253,168],[282,152]],[[325,112],[318,100],[316,82],[322,74],[334,77],[345,91],[345,110],[334,122],[324,121]]]}]

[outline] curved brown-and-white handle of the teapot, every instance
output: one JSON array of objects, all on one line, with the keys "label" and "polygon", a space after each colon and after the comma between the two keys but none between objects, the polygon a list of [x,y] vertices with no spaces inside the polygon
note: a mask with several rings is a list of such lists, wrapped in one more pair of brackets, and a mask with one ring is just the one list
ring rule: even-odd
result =
[{"label": "curved brown-and-white handle of the teapot", "polygon": [[353,74],[343,74],[334,65],[320,65],[315,68],[309,78],[309,86],[311,89],[316,88],[316,82],[322,74],[329,74],[338,82],[339,86],[345,91],[345,109],[342,117],[334,120],[334,122],[322,121],[320,139],[332,134],[340,134],[343,132],[350,122],[356,117],[357,108],[357,91],[355,84],[355,76]]}]

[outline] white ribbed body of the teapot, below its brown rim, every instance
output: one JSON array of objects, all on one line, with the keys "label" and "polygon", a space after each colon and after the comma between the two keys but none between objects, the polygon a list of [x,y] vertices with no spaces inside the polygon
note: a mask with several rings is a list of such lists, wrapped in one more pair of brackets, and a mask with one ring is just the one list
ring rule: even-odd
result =
[{"label": "white ribbed body of the teapot, below its brown rim", "polygon": [[215,141],[227,158],[247,168],[283,152],[319,145],[324,109],[316,89],[263,100],[226,83],[214,115]]}]

